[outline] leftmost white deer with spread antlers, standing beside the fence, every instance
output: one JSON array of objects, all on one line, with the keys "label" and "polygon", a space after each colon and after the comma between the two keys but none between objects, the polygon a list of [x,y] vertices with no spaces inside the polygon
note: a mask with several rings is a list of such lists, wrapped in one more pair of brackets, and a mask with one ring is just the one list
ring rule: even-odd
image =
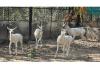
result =
[{"label": "leftmost white deer with spread antlers, standing beside the fence", "polygon": [[17,55],[17,47],[18,47],[17,43],[18,42],[20,42],[21,48],[22,48],[22,52],[23,52],[23,36],[21,34],[18,34],[18,33],[15,33],[15,34],[13,33],[16,28],[10,29],[10,28],[7,27],[7,29],[9,30],[9,34],[10,34],[9,35],[9,41],[10,41],[10,43],[9,43],[9,54],[12,54],[11,44],[14,43],[15,52],[16,52],[16,55]]}]

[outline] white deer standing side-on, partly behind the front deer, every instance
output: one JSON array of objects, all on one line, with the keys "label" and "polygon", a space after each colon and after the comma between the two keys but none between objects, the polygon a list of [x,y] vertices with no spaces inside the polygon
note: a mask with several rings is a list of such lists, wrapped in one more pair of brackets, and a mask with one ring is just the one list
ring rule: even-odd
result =
[{"label": "white deer standing side-on, partly behind the front deer", "polygon": [[[65,24],[64,24],[63,26],[65,26]],[[68,26],[68,24],[67,24],[67,25],[66,25],[66,30],[67,30],[67,33],[68,33],[69,35],[72,35],[72,36],[74,36],[74,37],[80,36],[81,39],[85,40],[84,35],[85,35],[85,32],[86,32],[86,31],[85,31],[84,27],[70,28],[70,27]]]}]

